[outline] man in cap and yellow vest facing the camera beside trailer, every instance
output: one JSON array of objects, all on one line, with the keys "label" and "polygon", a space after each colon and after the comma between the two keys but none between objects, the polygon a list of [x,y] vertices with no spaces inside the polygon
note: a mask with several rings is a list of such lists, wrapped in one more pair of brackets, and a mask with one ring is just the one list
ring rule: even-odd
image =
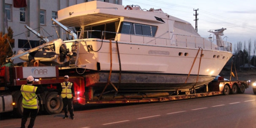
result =
[{"label": "man in cap and yellow vest facing the camera beside trailer", "polygon": [[74,108],[73,108],[73,97],[75,95],[74,93],[74,86],[73,83],[69,82],[69,76],[64,76],[64,82],[61,83],[61,88],[58,89],[58,95],[61,95],[62,101],[63,101],[63,107],[65,112],[65,117],[63,119],[67,119],[67,110],[69,111],[71,119],[74,119]]}]

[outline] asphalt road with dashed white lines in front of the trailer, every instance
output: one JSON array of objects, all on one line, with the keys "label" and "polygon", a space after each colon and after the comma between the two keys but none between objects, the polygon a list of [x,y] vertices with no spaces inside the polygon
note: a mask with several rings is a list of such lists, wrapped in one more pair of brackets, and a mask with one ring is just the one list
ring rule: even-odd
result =
[{"label": "asphalt road with dashed white lines in front of the trailer", "polygon": [[[74,115],[75,120],[62,119],[64,112],[39,115],[34,128],[256,128],[256,95],[250,87],[244,94],[227,96],[78,106]],[[0,128],[19,128],[20,123],[1,117]]]}]

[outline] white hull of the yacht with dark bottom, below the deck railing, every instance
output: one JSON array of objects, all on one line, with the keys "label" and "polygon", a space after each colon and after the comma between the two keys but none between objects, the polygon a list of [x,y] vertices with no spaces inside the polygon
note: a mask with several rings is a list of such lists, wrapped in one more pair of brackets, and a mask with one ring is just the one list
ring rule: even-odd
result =
[{"label": "white hull of the yacht with dark bottom, below the deck railing", "polygon": [[[101,43],[103,44],[99,50]],[[66,44],[69,47],[69,43]],[[88,45],[99,51],[88,52]],[[81,42],[78,67],[86,66],[86,69],[97,72],[96,76],[87,72],[86,77],[93,79],[92,84],[87,86],[105,86],[110,70],[114,72],[111,76],[112,83],[119,83],[117,45],[116,42],[112,42],[111,45],[112,62],[109,40],[100,42],[88,39]],[[201,86],[212,81],[232,57],[230,52],[203,50],[200,62],[199,48],[161,47],[124,42],[118,42],[118,49],[122,71],[120,90],[123,91],[188,90],[194,85]]]}]

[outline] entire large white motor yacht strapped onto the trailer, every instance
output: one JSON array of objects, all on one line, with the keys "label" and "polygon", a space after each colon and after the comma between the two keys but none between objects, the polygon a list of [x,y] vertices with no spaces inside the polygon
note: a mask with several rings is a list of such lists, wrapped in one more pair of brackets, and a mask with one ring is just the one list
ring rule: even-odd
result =
[{"label": "entire large white motor yacht strapped onto the trailer", "polygon": [[190,91],[212,81],[232,57],[232,44],[221,40],[224,28],[209,31],[216,40],[202,38],[189,22],[161,9],[92,1],[59,10],[53,21],[73,38],[45,43],[54,45],[51,62],[86,69],[86,87],[101,95]]}]

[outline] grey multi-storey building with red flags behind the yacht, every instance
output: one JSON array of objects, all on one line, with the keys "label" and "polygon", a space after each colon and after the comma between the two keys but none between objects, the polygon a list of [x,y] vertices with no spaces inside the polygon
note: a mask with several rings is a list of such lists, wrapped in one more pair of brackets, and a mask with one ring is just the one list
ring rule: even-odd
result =
[{"label": "grey multi-storey building with red flags behind the yacht", "polygon": [[[57,38],[67,40],[71,36],[67,35],[61,27],[52,24],[51,19],[58,18],[58,10],[90,1],[93,0],[1,0],[0,31],[6,33],[7,26],[12,28],[15,40],[13,50],[16,53],[21,48],[33,48],[43,43],[38,36],[25,28],[25,25],[48,40]],[[122,5],[122,0],[99,1]],[[14,63],[18,62],[22,61],[18,58],[14,59]]]}]

